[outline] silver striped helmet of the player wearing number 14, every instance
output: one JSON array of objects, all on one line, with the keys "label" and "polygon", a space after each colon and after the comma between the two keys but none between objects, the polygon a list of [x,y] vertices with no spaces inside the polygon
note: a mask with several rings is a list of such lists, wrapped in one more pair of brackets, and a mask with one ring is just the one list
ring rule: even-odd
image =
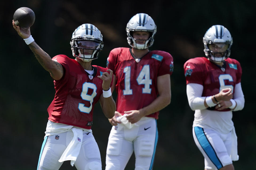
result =
[{"label": "silver striped helmet of the player wearing number 14", "polygon": [[[136,39],[132,36],[132,31],[146,31],[150,33],[149,39],[146,40],[145,44],[137,44]],[[127,41],[128,44],[139,50],[147,49],[154,43],[154,36],[157,32],[157,26],[154,20],[147,14],[139,13],[134,15],[126,26]]]}]

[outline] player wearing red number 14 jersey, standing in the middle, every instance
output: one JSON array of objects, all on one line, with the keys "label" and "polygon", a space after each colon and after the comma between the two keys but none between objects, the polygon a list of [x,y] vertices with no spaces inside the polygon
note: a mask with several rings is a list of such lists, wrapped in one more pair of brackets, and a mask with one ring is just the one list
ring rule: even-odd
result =
[{"label": "player wearing red number 14 jersey, standing in the middle", "polygon": [[154,20],[136,14],[127,23],[131,48],[115,48],[107,58],[113,70],[117,111],[106,154],[106,169],[125,169],[133,151],[135,169],[152,169],[158,140],[159,111],[170,104],[170,75],[173,57],[164,51],[150,51],[156,33]]}]

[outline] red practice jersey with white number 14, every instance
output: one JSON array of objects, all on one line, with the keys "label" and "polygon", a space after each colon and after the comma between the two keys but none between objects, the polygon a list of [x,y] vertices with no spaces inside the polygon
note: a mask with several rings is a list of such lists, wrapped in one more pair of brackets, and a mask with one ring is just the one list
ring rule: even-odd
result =
[{"label": "red practice jersey with white number 14", "polygon": [[[158,95],[157,77],[173,73],[173,57],[164,51],[150,51],[136,62],[130,48],[115,48],[107,58],[107,68],[116,76],[117,111],[139,110]],[[148,115],[158,119],[159,112]]]}]

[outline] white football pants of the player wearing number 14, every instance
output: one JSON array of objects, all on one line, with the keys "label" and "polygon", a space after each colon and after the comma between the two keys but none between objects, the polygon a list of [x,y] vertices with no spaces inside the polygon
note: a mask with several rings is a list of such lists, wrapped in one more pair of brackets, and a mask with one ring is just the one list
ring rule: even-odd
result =
[{"label": "white football pants of the player wearing number 14", "polygon": [[152,117],[142,117],[131,129],[113,126],[107,144],[106,170],[123,170],[133,151],[135,170],[151,170],[155,158],[158,131]]}]

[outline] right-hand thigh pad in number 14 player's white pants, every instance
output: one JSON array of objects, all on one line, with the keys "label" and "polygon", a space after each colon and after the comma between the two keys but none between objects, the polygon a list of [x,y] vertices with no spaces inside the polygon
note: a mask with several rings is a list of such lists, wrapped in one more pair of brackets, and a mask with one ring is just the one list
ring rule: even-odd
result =
[{"label": "right-hand thigh pad in number 14 player's white pants", "polygon": [[141,141],[138,147],[138,156],[152,156],[154,152],[154,141]]}]

